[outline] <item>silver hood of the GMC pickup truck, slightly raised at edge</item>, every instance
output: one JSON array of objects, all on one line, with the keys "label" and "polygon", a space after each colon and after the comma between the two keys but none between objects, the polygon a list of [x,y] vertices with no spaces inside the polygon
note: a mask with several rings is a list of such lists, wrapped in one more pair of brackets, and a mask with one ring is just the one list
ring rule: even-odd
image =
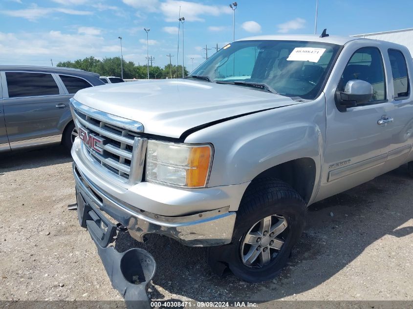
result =
[{"label": "silver hood of the GMC pickup truck, slightly raised at edge", "polygon": [[298,103],[248,87],[184,79],[90,87],[77,92],[74,99],[138,121],[145,133],[173,138],[200,125]]}]

